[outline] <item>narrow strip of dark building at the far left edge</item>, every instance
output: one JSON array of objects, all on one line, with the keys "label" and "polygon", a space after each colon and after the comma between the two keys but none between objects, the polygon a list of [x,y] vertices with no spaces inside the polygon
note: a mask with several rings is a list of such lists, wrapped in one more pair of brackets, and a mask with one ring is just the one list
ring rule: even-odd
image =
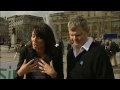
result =
[{"label": "narrow strip of dark building at the far left edge", "polygon": [[5,18],[0,17],[0,42],[1,43],[5,43],[8,41],[9,36],[8,36],[9,32],[8,32],[8,23]]}]

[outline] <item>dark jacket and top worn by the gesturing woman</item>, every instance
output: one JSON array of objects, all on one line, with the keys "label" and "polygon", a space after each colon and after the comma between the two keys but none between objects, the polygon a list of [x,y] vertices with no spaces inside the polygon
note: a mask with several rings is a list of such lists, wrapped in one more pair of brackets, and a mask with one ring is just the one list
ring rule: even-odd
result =
[{"label": "dark jacket and top worn by the gesturing woman", "polygon": [[[19,57],[19,62],[17,65],[17,70],[19,70],[19,68],[21,67],[21,65],[23,64],[24,60],[26,59],[27,62],[29,62],[30,60],[37,58],[38,55],[36,53],[36,51],[32,48],[29,47],[23,47],[21,52],[20,52],[20,57]],[[51,60],[53,60],[53,66],[55,71],[57,72],[57,77],[56,79],[63,79],[64,75],[63,75],[63,62],[62,60],[59,58],[59,53],[57,51],[57,48],[55,47],[55,53],[54,55],[50,55],[49,53],[46,54],[47,57],[47,61],[46,62],[50,62]],[[16,71],[17,71],[16,70]],[[24,76],[16,76],[16,79],[23,79]],[[41,73],[39,73],[38,71],[35,72],[29,72],[28,74],[26,74],[26,79],[51,79],[51,77],[47,74],[42,75]]]}]

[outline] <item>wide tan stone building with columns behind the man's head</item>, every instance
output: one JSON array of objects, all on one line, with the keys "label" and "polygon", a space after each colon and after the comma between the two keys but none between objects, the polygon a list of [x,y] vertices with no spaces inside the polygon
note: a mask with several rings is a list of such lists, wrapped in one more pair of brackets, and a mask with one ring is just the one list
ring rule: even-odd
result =
[{"label": "wide tan stone building with columns behind the man's head", "polygon": [[120,35],[119,11],[65,11],[50,14],[59,38],[64,41],[69,39],[67,23],[73,15],[81,15],[87,19],[91,36],[101,37],[106,33]]}]

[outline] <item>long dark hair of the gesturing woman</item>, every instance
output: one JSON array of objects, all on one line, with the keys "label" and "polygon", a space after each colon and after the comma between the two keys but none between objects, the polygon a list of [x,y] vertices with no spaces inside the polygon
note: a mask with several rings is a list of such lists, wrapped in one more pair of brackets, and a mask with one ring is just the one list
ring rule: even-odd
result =
[{"label": "long dark hair of the gesturing woman", "polygon": [[33,32],[36,37],[44,40],[45,52],[53,56],[56,51],[56,41],[52,29],[46,23],[40,23],[39,25],[33,27]]}]

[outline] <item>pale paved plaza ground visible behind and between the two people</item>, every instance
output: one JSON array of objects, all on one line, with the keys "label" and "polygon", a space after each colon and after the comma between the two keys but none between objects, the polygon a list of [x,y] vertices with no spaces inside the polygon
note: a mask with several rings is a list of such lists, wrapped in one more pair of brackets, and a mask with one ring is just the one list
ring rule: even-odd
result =
[{"label": "pale paved plaza ground visible behind and between the two people", "polygon": [[[66,69],[67,69],[66,54],[67,54],[67,51],[65,49],[64,57],[63,57],[64,78],[66,78]],[[11,48],[11,50],[9,52],[8,51],[8,46],[1,46],[0,63],[1,62],[4,62],[4,63],[5,62],[12,62],[12,61],[15,61],[15,60],[18,61],[19,56],[17,56],[16,58],[14,58],[14,55],[15,55],[14,48]],[[116,79],[120,79],[120,52],[117,53],[116,57],[117,57],[117,62],[119,64],[119,66],[118,67],[113,67],[113,70],[114,70],[115,78]]]}]

